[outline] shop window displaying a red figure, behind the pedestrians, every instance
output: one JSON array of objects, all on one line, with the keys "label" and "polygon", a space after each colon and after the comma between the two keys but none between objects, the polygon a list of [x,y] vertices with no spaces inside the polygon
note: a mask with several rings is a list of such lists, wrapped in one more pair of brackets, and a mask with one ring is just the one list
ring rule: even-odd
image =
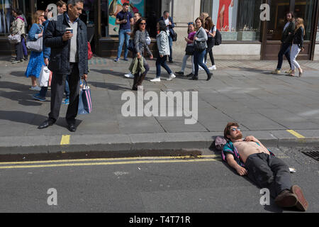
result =
[{"label": "shop window displaying a red figure, behind the pedestrians", "polygon": [[262,0],[202,1],[201,12],[211,12],[210,16],[223,40],[254,41],[260,36],[261,4]]}]

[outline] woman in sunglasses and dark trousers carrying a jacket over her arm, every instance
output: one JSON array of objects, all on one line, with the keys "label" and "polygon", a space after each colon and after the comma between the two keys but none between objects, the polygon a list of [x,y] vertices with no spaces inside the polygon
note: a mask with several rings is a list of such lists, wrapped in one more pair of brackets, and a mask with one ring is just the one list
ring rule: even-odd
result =
[{"label": "woman in sunglasses and dark trousers carrying a jacket over her arm", "polygon": [[[140,67],[138,67],[136,70],[132,70],[132,72],[134,73],[133,91],[138,90],[138,87],[142,86],[142,82],[145,79],[147,72],[150,70],[150,66],[147,64],[145,58],[143,57],[145,49],[150,55],[150,59],[153,59],[152,52],[147,45],[147,38],[150,37],[150,35],[147,33],[145,28],[146,19],[140,18],[135,23],[133,31],[133,44],[135,48],[135,58],[133,62],[140,62]],[[134,63],[132,64],[134,65]]]}]

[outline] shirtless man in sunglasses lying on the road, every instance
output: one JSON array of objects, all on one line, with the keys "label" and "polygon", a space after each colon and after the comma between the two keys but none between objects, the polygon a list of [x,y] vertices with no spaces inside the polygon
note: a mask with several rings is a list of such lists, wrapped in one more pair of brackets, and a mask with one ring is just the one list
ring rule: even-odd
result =
[{"label": "shirtless man in sunglasses lying on the road", "polygon": [[228,123],[224,130],[228,140],[222,151],[225,162],[240,176],[247,175],[258,187],[268,188],[280,207],[308,209],[308,202],[297,185],[292,185],[289,167],[254,136],[242,139],[238,123]]}]

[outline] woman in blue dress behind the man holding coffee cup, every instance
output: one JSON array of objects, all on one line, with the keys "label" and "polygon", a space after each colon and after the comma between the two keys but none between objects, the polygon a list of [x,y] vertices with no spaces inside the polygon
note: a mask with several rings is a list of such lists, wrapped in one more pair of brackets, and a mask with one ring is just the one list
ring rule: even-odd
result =
[{"label": "woman in blue dress behind the man holding coffee cup", "polygon": [[[28,33],[29,40],[38,40],[43,37],[43,22],[45,22],[45,12],[38,10],[33,14],[33,25]],[[30,60],[26,69],[26,77],[31,77],[32,91],[40,91],[37,84],[37,78],[40,76],[42,66],[45,65],[43,52],[31,51]]]}]

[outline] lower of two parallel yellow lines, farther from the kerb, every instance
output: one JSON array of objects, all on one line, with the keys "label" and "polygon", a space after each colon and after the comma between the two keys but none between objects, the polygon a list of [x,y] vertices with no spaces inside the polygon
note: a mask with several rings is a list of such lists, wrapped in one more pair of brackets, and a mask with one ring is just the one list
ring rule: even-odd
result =
[{"label": "lower of two parallel yellow lines, farther from the kerb", "polygon": [[128,165],[128,164],[147,164],[147,163],[174,163],[174,162],[216,162],[216,159],[196,159],[196,160],[145,160],[130,162],[91,162],[91,163],[67,163],[56,165],[11,165],[2,166],[0,169],[25,169],[25,168],[45,168],[45,167],[75,167],[75,166],[94,166],[94,165]]}]

